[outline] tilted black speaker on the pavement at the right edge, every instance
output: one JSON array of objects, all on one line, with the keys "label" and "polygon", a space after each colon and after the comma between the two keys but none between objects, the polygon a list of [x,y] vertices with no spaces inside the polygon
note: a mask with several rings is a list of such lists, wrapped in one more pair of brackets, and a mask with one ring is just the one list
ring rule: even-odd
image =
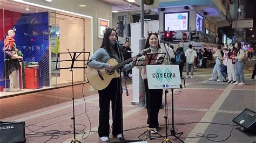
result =
[{"label": "tilted black speaker on the pavement at the right edge", "polygon": [[245,128],[246,131],[256,131],[256,112],[246,108],[232,120],[234,123]]}]

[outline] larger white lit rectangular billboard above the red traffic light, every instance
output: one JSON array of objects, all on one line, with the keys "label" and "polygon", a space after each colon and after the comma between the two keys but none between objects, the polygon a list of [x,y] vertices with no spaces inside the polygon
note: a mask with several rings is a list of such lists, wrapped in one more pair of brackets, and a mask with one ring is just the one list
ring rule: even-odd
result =
[{"label": "larger white lit rectangular billboard above the red traffic light", "polygon": [[188,12],[164,13],[164,31],[166,30],[188,30]]}]

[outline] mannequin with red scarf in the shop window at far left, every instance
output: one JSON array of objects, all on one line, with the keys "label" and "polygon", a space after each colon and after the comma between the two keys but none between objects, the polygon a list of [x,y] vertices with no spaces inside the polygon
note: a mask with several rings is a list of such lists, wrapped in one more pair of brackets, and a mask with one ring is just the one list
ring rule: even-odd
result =
[{"label": "mannequin with red scarf in the shop window at far left", "polygon": [[8,36],[4,40],[5,52],[5,78],[10,80],[9,91],[18,91],[19,90],[19,65],[18,61],[18,49],[16,48],[14,35],[16,29],[8,31]]}]

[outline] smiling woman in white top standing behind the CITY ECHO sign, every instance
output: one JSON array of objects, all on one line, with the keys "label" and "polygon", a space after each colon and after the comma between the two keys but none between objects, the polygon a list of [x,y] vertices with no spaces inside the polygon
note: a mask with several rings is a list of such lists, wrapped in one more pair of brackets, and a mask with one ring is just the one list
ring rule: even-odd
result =
[{"label": "smiling woman in white top standing behind the CITY ECHO sign", "polygon": [[[172,49],[169,46],[160,46],[158,33],[148,33],[146,44],[144,49],[150,48],[151,53],[160,53],[158,54],[157,59],[166,59],[163,62],[163,65],[170,65],[170,59],[174,56]],[[171,53],[172,51],[172,53]],[[161,54],[165,53],[165,54]],[[169,57],[168,55],[169,54]],[[163,57],[164,55],[164,57]],[[144,59],[145,56],[142,56],[140,59]],[[170,58],[170,59],[169,59]],[[159,127],[158,123],[158,113],[161,107],[163,99],[163,89],[149,89],[147,82],[147,69],[146,66],[138,66],[137,68],[142,68],[142,78],[144,80],[144,88],[146,91],[146,106],[147,106],[147,124],[153,131],[151,133],[156,133],[157,128]]]}]

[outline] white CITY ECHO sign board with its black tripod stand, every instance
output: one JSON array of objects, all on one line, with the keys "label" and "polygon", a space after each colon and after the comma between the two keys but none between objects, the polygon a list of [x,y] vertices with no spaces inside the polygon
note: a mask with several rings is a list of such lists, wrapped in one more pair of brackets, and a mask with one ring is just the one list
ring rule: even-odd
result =
[{"label": "white CITY ECHO sign board with its black tripod stand", "polygon": [[[160,78],[154,78],[152,77],[152,74],[156,71],[163,71],[162,77]],[[159,72],[161,73],[161,72]],[[165,136],[159,135],[159,137],[150,137],[150,140],[157,139],[157,138],[164,138],[162,142],[171,142],[168,137],[174,136],[181,142],[184,142],[183,140],[178,138],[178,134],[183,134],[183,132],[176,133],[174,130],[174,105],[173,105],[173,89],[174,88],[180,88],[181,80],[180,80],[180,74],[179,74],[179,67],[178,65],[161,65],[158,67],[154,66],[147,66],[147,78],[149,81],[149,89],[165,89]],[[167,89],[171,89],[172,91],[172,129],[171,129],[171,135],[167,134],[167,93],[169,92]]]}]

